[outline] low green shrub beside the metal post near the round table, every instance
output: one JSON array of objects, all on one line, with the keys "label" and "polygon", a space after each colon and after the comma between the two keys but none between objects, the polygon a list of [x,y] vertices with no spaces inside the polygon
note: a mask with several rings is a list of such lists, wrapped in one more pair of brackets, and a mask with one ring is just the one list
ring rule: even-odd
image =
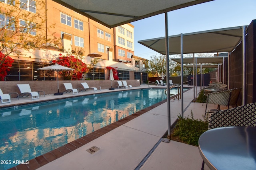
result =
[{"label": "low green shrub beside the metal post near the round table", "polygon": [[178,121],[174,127],[172,136],[178,137],[178,141],[198,146],[199,137],[208,130],[208,117],[202,119],[194,119],[193,113],[191,111],[191,118],[182,118],[181,115],[178,116]]}]

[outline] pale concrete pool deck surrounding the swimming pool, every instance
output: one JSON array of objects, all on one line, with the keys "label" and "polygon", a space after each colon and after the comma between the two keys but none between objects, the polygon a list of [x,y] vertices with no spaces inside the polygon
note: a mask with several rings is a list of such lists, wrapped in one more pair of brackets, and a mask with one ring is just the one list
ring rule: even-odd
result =
[{"label": "pale concrete pool deck surrounding the swimming pool", "polygon": [[[159,86],[158,86],[159,87]],[[163,86],[161,86],[163,87]],[[148,86],[142,85],[136,88],[148,88]],[[110,92],[124,89],[115,90],[102,90],[101,92]],[[198,92],[200,90],[198,89]],[[95,94],[93,91],[86,91],[79,93]],[[54,96],[54,98],[60,97],[74,97],[77,95],[64,94],[62,96]],[[46,97],[40,96],[39,100],[49,100],[53,98],[53,95],[46,95]],[[19,103],[26,103],[26,100],[32,101],[29,98],[12,99],[11,104],[16,105]],[[184,117],[193,112],[195,119],[203,119],[205,105],[202,103],[193,103],[193,89],[184,93]],[[33,100],[34,102],[35,100]],[[171,107],[171,123],[177,119],[180,110],[181,100],[170,100]],[[3,106],[4,104],[1,104]],[[216,109],[217,106],[208,104],[208,109]],[[95,137],[92,141],[89,141],[85,145],[74,149],[72,152],[64,153],[63,156],[55,158],[52,161],[44,162],[40,160],[37,162],[31,162],[31,165],[20,165],[11,169],[37,169],[49,170],[49,169],[62,169],[62,170],[158,170],[158,169],[175,169],[175,170],[198,170],[202,165],[202,158],[198,151],[198,147],[192,145],[186,145],[176,141],[170,141],[170,143],[162,142],[162,137],[167,130],[167,103],[162,102],[156,107],[145,111],[138,117],[132,118],[130,121],[124,124],[118,125],[111,129],[108,133]],[[224,109],[224,108],[223,108]],[[156,146],[158,144],[158,146]],[[93,152],[97,147],[100,150]],[[91,149],[92,153],[87,150]],[[154,148],[154,151],[151,151]],[[148,155],[152,152],[151,155]],[[148,156],[147,156],[148,155]],[[47,157],[42,156],[44,160],[48,160]],[[144,158],[148,158],[147,160]],[[140,164],[140,162],[144,164]],[[138,165],[140,165],[138,167]],[[29,167],[29,168],[28,168]],[[33,168],[34,167],[34,168]],[[209,168],[205,165],[205,170]]]}]

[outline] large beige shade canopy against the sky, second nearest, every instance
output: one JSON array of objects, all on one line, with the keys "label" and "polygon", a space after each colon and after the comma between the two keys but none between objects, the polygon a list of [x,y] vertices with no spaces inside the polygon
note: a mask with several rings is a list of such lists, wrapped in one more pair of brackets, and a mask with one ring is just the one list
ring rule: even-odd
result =
[{"label": "large beige shade canopy against the sky, second nearest", "polygon": [[[183,34],[183,54],[231,52],[242,40],[242,26]],[[169,55],[180,54],[180,34],[169,36]],[[165,37],[138,43],[165,55]],[[185,59],[185,58],[184,58]]]}]

